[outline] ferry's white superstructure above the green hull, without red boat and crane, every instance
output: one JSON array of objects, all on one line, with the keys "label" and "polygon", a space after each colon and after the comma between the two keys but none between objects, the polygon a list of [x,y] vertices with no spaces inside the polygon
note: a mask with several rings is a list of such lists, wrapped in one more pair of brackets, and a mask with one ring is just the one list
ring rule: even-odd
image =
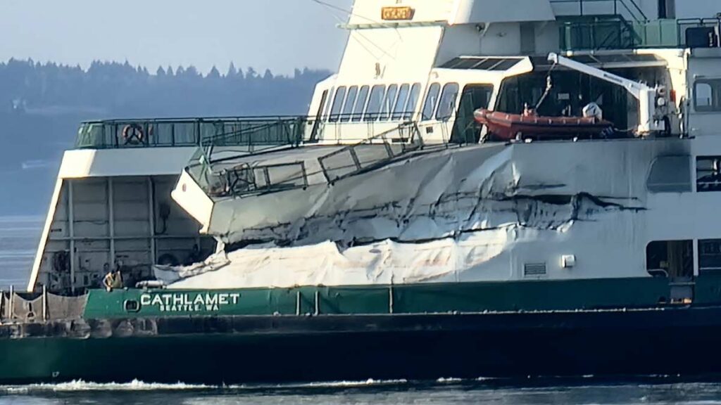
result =
[{"label": "ferry's white superstructure above the green hull, without red boat and crane", "polygon": [[[207,256],[209,236],[242,249],[156,275],[240,288],[712,271],[720,23],[707,1],[674,3],[356,1],[309,117],[85,125],[29,289],[58,274],[75,279],[58,288],[83,288],[77,275],[105,263],[148,275],[161,258]],[[549,53],[664,89],[663,120],[636,138],[489,142],[479,108],[580,115],[595,102],[619,133],[643,126],[624,86]],[[180,172],[173,200],[197,222],[168,204]]]}]

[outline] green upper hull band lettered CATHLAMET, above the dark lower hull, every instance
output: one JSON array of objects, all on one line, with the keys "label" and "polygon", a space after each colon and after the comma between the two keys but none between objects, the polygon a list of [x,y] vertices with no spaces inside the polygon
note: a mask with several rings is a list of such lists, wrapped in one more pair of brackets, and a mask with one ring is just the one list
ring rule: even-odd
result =
[{"label": "green upper hull band lettered CATHLAMET, above the dark lower hull", "polygon": [[[699,303],[719,302],[721,278],[699,277]],[[642,308],[667,302],[668,280],[627,278],[528,282],[261,288],[120,290],[89,294],[86,319],[127,316],[402,314],[483,311],[570,311]],[[127,306],[126,303],[131,303]],[[133,306],[136,303],[136,306]]]}]

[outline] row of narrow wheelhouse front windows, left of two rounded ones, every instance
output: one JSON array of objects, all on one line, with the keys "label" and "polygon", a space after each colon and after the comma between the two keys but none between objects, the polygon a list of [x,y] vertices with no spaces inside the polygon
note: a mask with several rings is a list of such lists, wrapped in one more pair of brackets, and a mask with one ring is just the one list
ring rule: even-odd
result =
[{"label": "row of narrow wheelhouse front windows, left of two rounded ones", "polygon": [[[334,90],[331,89],[331,94]],[[410,120],[420,96],[420,83],[340,86],[332,102],[325,103],[323,118],[332,123],[350,121]]]}]

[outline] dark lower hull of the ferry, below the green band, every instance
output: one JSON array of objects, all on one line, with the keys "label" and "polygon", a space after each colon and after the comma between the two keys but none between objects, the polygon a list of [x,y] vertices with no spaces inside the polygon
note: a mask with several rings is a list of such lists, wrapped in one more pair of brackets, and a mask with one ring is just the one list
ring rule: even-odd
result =
[{"label": "dark lower hull of the ferry, below the green band", "polygon": [[[156,319],[156,336],[0,344],[0,382],[699,375],[721,371],[721,308]],[[138,320],[116,320],[115,324]],[[90,321],[89,328],[97,328]],[[68,325],[25,325],[55,334]],[[4,326],[5,335],[8,333]],[[35,330],[33,330],[35,329]],[[162,361],[156,361],[162,359]]]}]

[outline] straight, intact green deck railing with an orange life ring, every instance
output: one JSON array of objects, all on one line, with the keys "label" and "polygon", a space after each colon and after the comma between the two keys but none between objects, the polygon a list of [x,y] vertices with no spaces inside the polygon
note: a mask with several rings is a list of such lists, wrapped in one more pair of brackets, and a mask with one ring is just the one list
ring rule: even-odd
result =
[{"label": "straight, intact green deck railing with an orange life ring", "polygon": [[83,123],[76,148],[155,148],[244,146],[252,152],[265,146],[297,146],[314,139],[311,117],[222,117],[155,120],[105,120]]}]

